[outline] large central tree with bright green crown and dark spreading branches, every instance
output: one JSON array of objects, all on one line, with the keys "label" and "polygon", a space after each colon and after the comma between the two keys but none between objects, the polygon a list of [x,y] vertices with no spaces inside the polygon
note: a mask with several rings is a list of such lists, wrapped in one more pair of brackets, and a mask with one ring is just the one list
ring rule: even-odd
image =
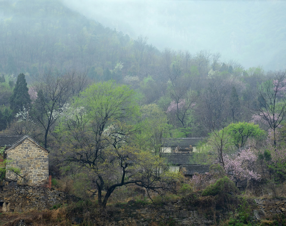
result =
[{"label": "large central tree with bright green crown and dark spreading branches", "polygon": [[[70,111],[58,131],[60,157],[89,171],[102,207],[114,189],[123,185],[170,188],[175,175],[167,171],[163,159],[134,143],[134,124],[140,113],[135,92],[128,86],[114,81],[93,84],[80,94]],[[160,178],[158,168],[162,169]]]}]

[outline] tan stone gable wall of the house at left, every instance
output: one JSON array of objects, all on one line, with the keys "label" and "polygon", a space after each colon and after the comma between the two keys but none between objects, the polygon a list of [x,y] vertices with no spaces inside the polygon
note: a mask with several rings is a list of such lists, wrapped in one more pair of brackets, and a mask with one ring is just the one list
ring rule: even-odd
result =
[{"label": "tan stone gable wall of the house at left", "polygon": [[[17,180],[18,184],[39,185],[49,178],[48,151],[26,139],[7,152],[6,179]],[[17,176],[10,167],[21,170]]]}]

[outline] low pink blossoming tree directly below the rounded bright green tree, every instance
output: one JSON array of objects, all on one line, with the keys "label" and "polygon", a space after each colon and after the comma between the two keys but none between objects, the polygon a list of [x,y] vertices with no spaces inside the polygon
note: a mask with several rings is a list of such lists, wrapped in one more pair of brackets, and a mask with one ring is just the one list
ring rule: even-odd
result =
[{"label": "low pink blossoming tree directly below the rounded bright green tree", "polygon": [[224,170],[227,175],[235,182],[243,179],[260,180],[260,175],[255,171],[254,163],[257,156],[251,148],[243,149],[235,154],[224,158]]}]

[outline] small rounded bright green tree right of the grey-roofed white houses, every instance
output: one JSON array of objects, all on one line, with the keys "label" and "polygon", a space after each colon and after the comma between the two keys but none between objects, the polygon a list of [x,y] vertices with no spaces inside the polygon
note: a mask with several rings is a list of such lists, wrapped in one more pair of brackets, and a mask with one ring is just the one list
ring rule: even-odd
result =
[{"label": "small rounded bright green tree right of the grey-roofed white houses", "polygon": [[254,125],[254,123],[231,123],[225,129],[237,148],[243,147],[250,137],[261,139],[265,135],[265,132],[259,128],[259,125]]}]

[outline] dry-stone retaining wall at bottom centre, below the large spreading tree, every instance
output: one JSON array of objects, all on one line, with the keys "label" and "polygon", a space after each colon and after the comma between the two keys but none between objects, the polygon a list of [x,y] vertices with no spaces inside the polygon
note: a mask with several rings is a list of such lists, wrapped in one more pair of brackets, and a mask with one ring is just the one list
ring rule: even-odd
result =
[{"label": "dry-stone retaining wall at bottom centre, below the large spreading tree", "polygon": [[[136,225],[148,226],[152,222],[171,223],[170,225],[213,225],[212,214],[210,217],[206,213],[200,213],[198,208],[184,205],[181,201],[168,202],[164,205],[142,205],[129,202],[122,205],[122,208],[114,209],[110,216],[92,217],[91,222],[98,226],[123,226]],[[163,224],[164,225],[164,224]]]}]

